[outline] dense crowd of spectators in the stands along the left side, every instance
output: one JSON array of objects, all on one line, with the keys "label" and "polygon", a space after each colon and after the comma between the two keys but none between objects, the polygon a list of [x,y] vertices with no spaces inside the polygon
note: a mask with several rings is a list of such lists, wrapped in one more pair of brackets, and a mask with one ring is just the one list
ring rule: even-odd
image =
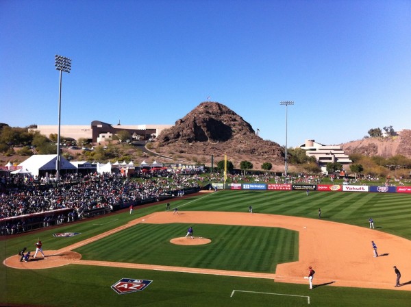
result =
[{"label": "dense crowd of spectators in the stands along the left side", "polygon": [[[62,176],[59,184],[45,183],[44,178],[25,179],[23,177],[2,177],[0,180],[0,221],[8,217],[18,217],[39,212],[51,212],[71,208],[69,213],[53,217],[53,221],[63,223],[82,219],[85,212],[96,208],[112,208],[144,199],[159,199],[164,195],[182,195],[185,188],[199,188],[198,175],[177,175],[170,171],[136,173],[136,178],[125,177],[121,173],[88,175],[68,174]],[[177,191],[177,192],[175,192]],[[74,215],[74,216],[73,216]],[[50,221],[43,221],[44,227]],[[23,219],[14,223],[3,223],[2,232],[14,234],[24,231]]]}]

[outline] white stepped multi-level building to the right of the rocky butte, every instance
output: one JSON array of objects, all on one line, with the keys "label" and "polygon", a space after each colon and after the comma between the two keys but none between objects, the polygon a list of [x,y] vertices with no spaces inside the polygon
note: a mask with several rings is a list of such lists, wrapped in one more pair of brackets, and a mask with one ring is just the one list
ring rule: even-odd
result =
[{"label": "white stepped multi-level building to the right of the rocky butte", "polygon": [[321,167],[321,170],[326,173],[327,163],[340,162],[347,169],[352,163],[349,156],[345,154],[343,147],[338,145],[323,145],[315,142],[315,140],[306,140],[306,143],[300,146],[306,151],[307,156],[314,156]]}]

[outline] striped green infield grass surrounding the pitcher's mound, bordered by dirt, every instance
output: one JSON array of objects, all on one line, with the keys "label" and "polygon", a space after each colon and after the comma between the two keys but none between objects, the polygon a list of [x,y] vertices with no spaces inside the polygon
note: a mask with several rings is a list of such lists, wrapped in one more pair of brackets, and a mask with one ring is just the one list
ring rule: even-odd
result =
[{"label": "striped green infield grass surrounding the pitcher's mound, bordered by dirt", "polygon": [[[273,238],[287,237],[288,232],[293,232],[278,228],[201,224],[196,226],[195,232],[211,238],[212,243],[195,246],[169,243],[173,233],[181,236],[187,227],[187,224],[179,223],[138,224],[76,251],[84,260],[272,273],[277,265],[277,255],[283,255],[284,247],[279,242],[287,243],[287,250],[290,244],[288,240],[274,241]],[[297,256],[286,253],[286,258],[286,261],[293,261]],[[279,259],[284,261],[284,256]]]}]

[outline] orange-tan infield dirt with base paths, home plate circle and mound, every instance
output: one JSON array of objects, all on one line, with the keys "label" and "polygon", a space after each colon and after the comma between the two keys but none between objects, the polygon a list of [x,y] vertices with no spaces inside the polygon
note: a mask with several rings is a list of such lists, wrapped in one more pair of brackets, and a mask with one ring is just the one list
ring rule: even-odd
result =
[{"label": "orange-tan infield dirt with base paths, home plate circle and mound", "polygon": [[[144,219],[145,221],[142,221]],[[137,223],[196,223],[219,225],[249,225],[278,227],[299,232],[299,261],[277,265],[275,273],[253,273],[223,271],[213,269],[195,269],[158,265],[118,263],[82,260],[73,249],[97,241]],[[201,234],[200,234],[201,235]],[[200,238],[175,238],[179,244],[200,243]],[[206,238],[204,238],[206,239]],[[212,240],[212,238],[210,238]],[[379,257],[373,258],[371,241],[378,246]],[[204,244],[204,243],[202,243]],[[314,286],[351,286],[359,288],[385,288],[390,290],[411,291],[411,241],[392,234],[370,230],[358,226],[273,214],[236,213],[236,212],[191,212],[179,214],[155,212],[140,217],[119,228],[110,230],[85,241],[64,247],[58,251],[45,251],[46,259],[20,262],[19,256],[12,256],[3,261],[4,265],[18,269],[45,269],[72,263],[78,265],[116,266],[136,269],[160,269],[190,273],[208,273],[251,278],[270,278],[275,282],[308,284],[304,276],[308,275],[308,266],[316,271]],[[402,272],[403,286],[395,288],[396,275],[393,265]]]}]

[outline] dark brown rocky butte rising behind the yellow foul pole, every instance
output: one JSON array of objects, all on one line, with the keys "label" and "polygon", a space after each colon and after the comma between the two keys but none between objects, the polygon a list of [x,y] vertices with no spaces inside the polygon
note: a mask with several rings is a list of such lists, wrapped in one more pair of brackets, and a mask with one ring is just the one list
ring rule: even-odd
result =
[{"label": "dark brown rocky butte rising behind the yellow foul pole", "polygon": [[253,163],[253,169],[271,162],[284,169],[284,148],[256,135],[247,121],[218,102],[202,102],[169,129],[158,136],[153,149],[164,156],[191,159],[210,164],[223,160],[224,154],[239,168],[242,160]]}]

